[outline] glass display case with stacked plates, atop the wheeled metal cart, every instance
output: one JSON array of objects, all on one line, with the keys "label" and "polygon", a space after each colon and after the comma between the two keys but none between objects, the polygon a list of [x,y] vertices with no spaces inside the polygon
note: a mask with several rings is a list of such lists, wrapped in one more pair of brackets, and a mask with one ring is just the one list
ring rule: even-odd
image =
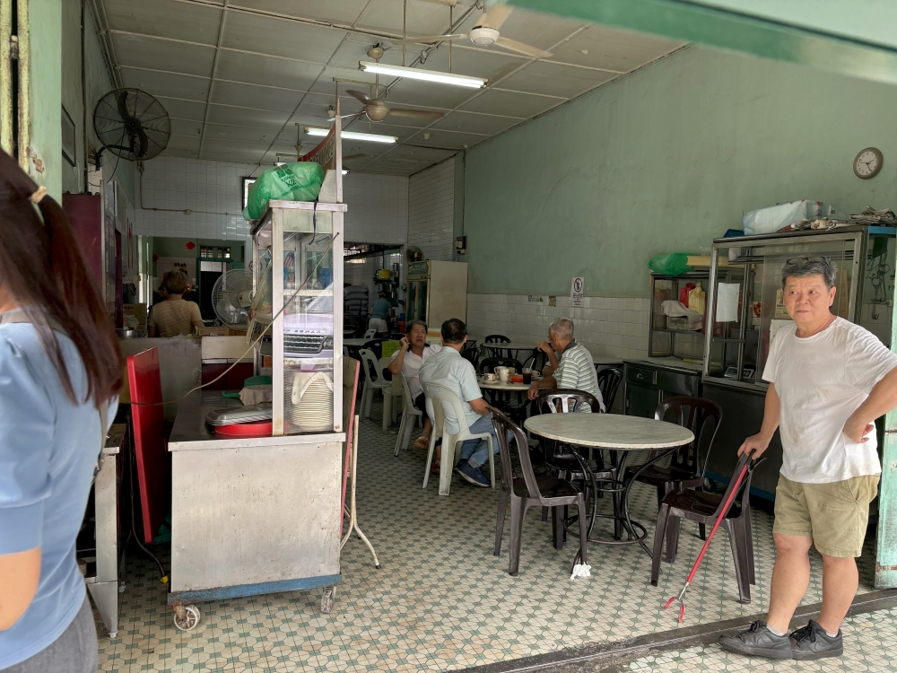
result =
[{"label": "glass display case with stacked plates, atop the wheeled metal cart", "polygon": [[[253,227],[248,339],[272,356],[274,435],[342,432],[344,204],[271,201]],[[336,299],[336,301],[335,301]]]}]

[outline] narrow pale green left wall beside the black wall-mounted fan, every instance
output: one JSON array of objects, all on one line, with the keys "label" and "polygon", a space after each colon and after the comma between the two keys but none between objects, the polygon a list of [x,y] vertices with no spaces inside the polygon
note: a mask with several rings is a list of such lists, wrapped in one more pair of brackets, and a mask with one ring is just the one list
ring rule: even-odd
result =
[{"label": "narrow pale green left wall beside the black wall-mounted fan", "polygon": [[[83,140],[83,98],[81,86],[81,2],[65,0],[62,8],[62,104],[74,119],[78,138],[78,165],[62,159],[62,184],[64,191],[81,192],[84,188],[84,140]],[[109,70],[100,51],[100,38],[91,21],[90,12],[84,14],[84,74],[86,83],[87,137],[93,148],[100,142],[93,131],[93,109],[97,101],[107,92],[115,89],[109,78]],[[102,161],[110,162],[108,174],[115,168],[117,158],[111,153],[103,153]],[[115,177],[121,182],[127,197],[134,203],[134,162],[118,160]]]}]

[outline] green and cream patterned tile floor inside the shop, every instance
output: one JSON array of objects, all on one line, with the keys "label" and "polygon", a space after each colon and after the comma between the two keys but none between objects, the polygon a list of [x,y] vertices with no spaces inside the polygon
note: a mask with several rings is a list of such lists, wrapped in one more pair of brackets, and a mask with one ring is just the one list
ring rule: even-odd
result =
[{"label": "green and cream patterned tile floor inside the shop", "polygon": [[[592,577],[570,581],[576,547],[555,551],[550,523],[532,508],[520,574],[510,577],[507,521],[501,557],[492,555],[497,491],[466,485],[457,476],[448,497],[438,494],[436,479],[423,490],[425,452],[394,458],[396,433],[381,433],[379,418],[375,404],[370,420],[361,423],[358,516],[382,568],[374,568],[361,540],[350,539],[331,615],[320,613],[319,590],[221,600],[200,604],[201,624],[183,633],[172,624],[155,569],[137,557],[127,566],[118,638],[100,639],[100,669],[449,670],[675,628],[673,611],[661,605],[681,588],[701,547],[695,526],[684,526],[680,555],[674,565],[665,564],[659,587],[650,585],[650,559],[638,546],[589,546]],[[633,519],[651,531],[655,494],[641,485],[633,493]],[[692,584],[686,625],[752,615],[767,605],[771,516],[755,510],[753,526],[753,603],[736,600],[734,567],[720,531]],[[873,563],[869,546],[861,591],[872,589]],[[818,555],[813,565],[806,603],[821,599]],[[868,619],[875,623],[877,617]],[[692,659],[713,659],[712,651]]]}]

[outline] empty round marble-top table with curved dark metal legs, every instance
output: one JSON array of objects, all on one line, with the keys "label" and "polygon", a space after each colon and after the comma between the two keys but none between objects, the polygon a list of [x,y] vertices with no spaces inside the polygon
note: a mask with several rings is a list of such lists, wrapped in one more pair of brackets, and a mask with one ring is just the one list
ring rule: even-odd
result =
[{"label": "empty round marble-top table with curved dark metal legs", "polygon": [[[589,533],[595,523],[596,517],[614,520],[615,533],[620,527],[626,529],[629,539],[592,539],[589,542],[610,545],[630,545],[638,543],[650,555],[651,550],[645,544],[647,530],[638,521],[633,521],[629,516],[629,492],[635,477],[639,476],[649,465],[653,465],[677,448],[690,443],[694,434],[688,428],[681,425],[656,421],[653,418],[641,418],[640,416],[624,416],[617,414],[542,414],[531,416],[524,422],[524,427],[533,434],[546,439],[562,441],[569,444],[572,450],[577,447],[590,447],[595,449],[608,449],[614,452],[629,452],[639,450],[663,450],[654,459],[650,459],[645,465],[623,484],[620,477],[625,474],[625,459],[619,462],[617,478],[597,479],[593,478],[594,490],[607,491],[612,494],[622,494],[619,513],[597,514],[597,500],[592,513],[592,524],[589,525]],[[614,461],[616,464],[616,461]],[[611,484],[610,487],[599,489],[597,481]],[[597,494],[597,493],[596,493]],[[633,527],[640,529],[640,534]],[[575,535],[575,531],[570,530]],[[616,535],[615,535],[616,537]]]}]

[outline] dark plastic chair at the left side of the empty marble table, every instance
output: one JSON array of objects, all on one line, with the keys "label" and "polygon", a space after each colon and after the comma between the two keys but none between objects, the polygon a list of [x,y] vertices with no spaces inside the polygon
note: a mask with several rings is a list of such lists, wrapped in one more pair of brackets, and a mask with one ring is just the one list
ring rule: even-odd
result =
[{"label": "dark plastic chair at the left side of the empty marble table", "polygon": [[[538,477],[533,473],[533,465],[529,461],[529,445],[527,435],[507,416],[492,413],[492,425],[499,441],[501,454],[501,493],[499,494],[498,516],[495,521],[495,550],[493,555],[501,554],[501,534],[504,530],[505,512],[510,503],[510,558],[508,572],[517,575],[520,569],[520,543],[523,537],[523,521],[527,518],[527,509],[534,505],[553,508],[554,548],[563,546],[562,508],[576,505],[579,511],[579,563],[586,564],[586,499],[573,485],[563,479]],[[520,473],[517,476],[510,459],[508,433],[513,433],[517,442],[520,459]]]}]

